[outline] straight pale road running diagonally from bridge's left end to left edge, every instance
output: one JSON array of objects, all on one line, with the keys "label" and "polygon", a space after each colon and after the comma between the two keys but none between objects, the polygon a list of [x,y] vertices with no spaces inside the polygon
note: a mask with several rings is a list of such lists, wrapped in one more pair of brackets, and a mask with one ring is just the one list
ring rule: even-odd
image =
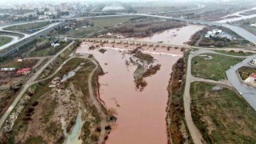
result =
[{"label": "straight pale road running diagonally from bridge's left end to left edge", "polygon": [[68,49],[73,44],[74,44],[74,42],[71,42],[68,46],[66,46],[64,49],[59,51],[58,54],[54,55],[53,58],[50,58],[50,60],[48,62],[46,62],[46,64],[43,65],[38,71],[36,71],[35,74],[33,74],[33,76],[30,77],[29,80],[25,83],[25,85],[22,86],[21,91],[17,95],[17,98],[15,98],[14,102],[10,105],[8,110],[6,110],[6,113],[0,119],[0,128],[2,128],[2,124],[6,121],[6,118],[9,116],[11,111],[14,109],[14,106],[16,106],[17,103],[19,102],[19,100],[22,98],[22,95],[26,93],[27,88],[34,84],[34,80],[36,78],[38,78],[38,76],[42,73],[42,71],[45,70],[46,67],[49,66],[51,62],[53,62],[60,54],[62,54],[63,51]]}]

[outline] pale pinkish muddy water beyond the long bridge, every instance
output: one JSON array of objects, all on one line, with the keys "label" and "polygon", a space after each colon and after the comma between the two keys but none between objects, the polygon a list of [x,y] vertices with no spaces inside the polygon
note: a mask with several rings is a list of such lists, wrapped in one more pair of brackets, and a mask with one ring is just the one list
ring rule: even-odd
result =
[{"label": "pale pinkish muddy water beyond the long bridge", "polygon": [[162,33],[154,34],[152,37],[146,38],[128,38],[143,42],[163,42],[172,45],[184,46],[185,42],[189,42],[191,36],[198,30],[202,30],[204,26],[188,25],[178,29],[165,30]]}]

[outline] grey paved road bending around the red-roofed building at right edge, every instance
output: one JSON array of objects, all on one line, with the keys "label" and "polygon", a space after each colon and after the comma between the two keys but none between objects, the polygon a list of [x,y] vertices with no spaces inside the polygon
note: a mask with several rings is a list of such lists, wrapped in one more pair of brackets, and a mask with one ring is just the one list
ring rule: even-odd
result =
[{"label": "grey paved road bending around the red-roofed building at right edge", "polygon": [[256,110],[256,89],[246,85],[241,81],[240,76],[237,73],[237,70],[242,66],[250,66],[248,62],[252,61],[253,58],[256,58],[256,54],[246,58],[244,61],[239,62],[237,65],[232,66],[230,70],[226,71],[226,76],[230,81],[231,85],[234,86],[238,93],[242,94],[242,97]]}]

